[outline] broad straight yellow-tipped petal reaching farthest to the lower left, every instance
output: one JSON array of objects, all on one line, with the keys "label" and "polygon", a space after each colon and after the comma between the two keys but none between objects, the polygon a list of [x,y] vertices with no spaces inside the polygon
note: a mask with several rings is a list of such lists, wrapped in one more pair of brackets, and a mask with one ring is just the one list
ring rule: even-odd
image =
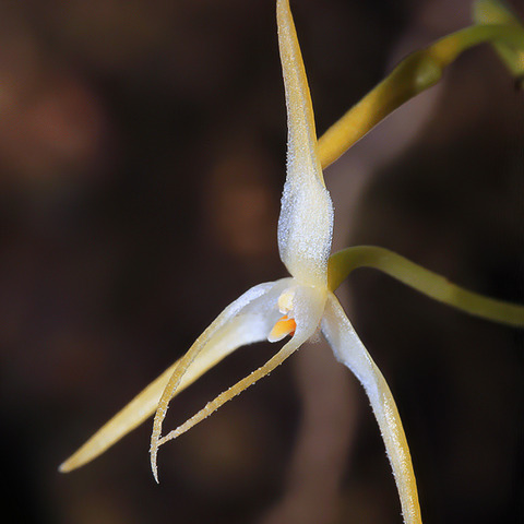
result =
[{"label": "broad straight yellow-tipped petal reaching farthest to the lower left", "polygon": [[[231,308],[234,305],[227,308],[219,317],[225,320],[225,323],[217,326],[213,340],[207,341],[203,350],[188,368],[174,395],[180,393],[238,347],[265,340],[279,317],[279,312],[274,307],[272,310],[271,302],[276,303],[278,295],[289,281],[286,278],[276,283],[261,284],[247,291],[234,302],[237,306],[245,303],[243,309],[240,313],[237,312],[236,317],[235,311],[238,308]],[[259,296],[259,294],[262,295]],[[255,296],[259,298],[254,298]],[[262,297],[266,300],[263,300]],[[264,303],[261,303],[261,299]],[[227,318],[224,319],[224,317]],[[104,425],[82,448],[60,465],[60,471],[67,473],[91,462],[153,415],[162,393],[180,360],[178,359],[166,369]]]}]

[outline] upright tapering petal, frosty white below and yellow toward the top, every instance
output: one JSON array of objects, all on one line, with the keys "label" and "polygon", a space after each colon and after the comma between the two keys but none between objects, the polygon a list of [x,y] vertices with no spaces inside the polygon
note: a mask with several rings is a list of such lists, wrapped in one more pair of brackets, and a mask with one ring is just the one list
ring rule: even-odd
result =
[{"label": "upright tapering petal, frosty white below and yellow toward the top", "polygon": [[287,0],[277,2],[277,24],[288,126],[278,249],[294,277],[303,284],[325,286],[333,204],[317,155],[311,96]]}]

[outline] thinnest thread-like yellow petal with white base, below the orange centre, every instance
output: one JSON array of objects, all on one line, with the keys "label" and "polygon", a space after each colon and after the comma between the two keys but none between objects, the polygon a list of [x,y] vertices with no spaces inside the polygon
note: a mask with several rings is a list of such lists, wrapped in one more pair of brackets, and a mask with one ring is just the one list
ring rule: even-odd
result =
[{"label": "thinnest thread-like yellow petal with white base, below the orange centre", "polygon": [[165,437],[158,438],[156,440],[155,448],[153,448],[152,443],[152,468],[153,474],[155,475],[155,479],[157,481],[158,476],[156,467],[156,456],[158,448],[162,444],[165,444],[169,440],[176,439],[180,434],[184,433],[193,426],[202,421],[204,418],[209,417],[213,412],[218,409],[226,402],[230,401],[243,390],[248,389],[250,385],[253,385],[260,379],[269,374],[286,358],[288,358],[293,353],[295,353],[308,338],[315,334],[319,329],[319,324],[324,310],[326,298],[325,291],[312,287],[297,286],[294,289],[294,318],[296,321],[296,331],[293,338],[287,344],[285,344],[284,347],[276,355],[274,355],[259,369],[248,374],[248,377],[237,382],[234,386],[229,388],[224,393],[221,393],[213,401],[209,402],[205,407],[203,407],[200,412],[198,412],[178,428],[174,429]]}]

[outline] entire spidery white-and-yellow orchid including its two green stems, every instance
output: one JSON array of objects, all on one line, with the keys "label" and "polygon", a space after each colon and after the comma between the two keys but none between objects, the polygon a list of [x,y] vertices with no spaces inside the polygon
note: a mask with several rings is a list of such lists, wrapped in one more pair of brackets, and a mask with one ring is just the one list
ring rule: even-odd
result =
[{"label": "entire spidery white-and-yellow orchid including its two green stems", "polygon": [[[524,309],[462,289],[385,249],[354,247],[330,257],[334,210],[322,168],[395,107],[438,81],[442,69],[458,52],[496,37],[502,39],[502,46],[516,40],[522,43],[522,32],[519,27],[514,34],[501,32],[499,25],[493,25],[477,31],[475,38],[472,31],[458,37],[455,35],[453,41],[457,45],[451,55],[443,52],[451,40],[440,40],[428,48],[431,52],[426,50],[426,53],[412,56],[410,62],[402,62],[396,73],[394,71],[379,84],[318,141],[288,0],[277,0],[277,26],[288,121],[287,176],[277,237],[279,255],[290,276],[259,284],[227,306],[183,357],[109,420],[60,466],[60,471],[69,472],[92,461],[155,413],[150,454],[153,475],[158,481],[157,454],[163,444],[192,428],[269,374],[303,343],[322,333],[335,358],[354,372],[369,397],[393,469],[404,521],[421,523],[414,468],[398,409],[384,377],[334,291],[349,272],[366,265],[380,269],[437,300],[489,320],[522,326]],[[439,49],[442,52],[437,52]],[[406,83],[406,71],[412,71],[417,84]],[[413,71],[425,74],[417,76]],[[386,95],[389,92],[398,95],[402,90],[401,96]],[[289,337],[287,342],[266,364],[219,394],[181,426],[163,434],[163,422],[174,396],[238,347],[265,340],[276,343],[286,337]]]}]

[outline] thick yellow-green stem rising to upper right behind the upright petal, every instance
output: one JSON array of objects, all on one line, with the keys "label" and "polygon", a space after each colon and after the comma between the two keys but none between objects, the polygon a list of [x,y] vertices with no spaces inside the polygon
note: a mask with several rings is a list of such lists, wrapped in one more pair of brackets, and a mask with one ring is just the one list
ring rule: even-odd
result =
[{"label": "thick yellow-green stem rising to upper right behind the upright petal", "polygon": [[336,160],[402,104],[434,85],[445,67],[460,53],[485,41],[523,50],[524,31],[508,24],[473,25],[406,57],[319,139],[322,168]]}]

